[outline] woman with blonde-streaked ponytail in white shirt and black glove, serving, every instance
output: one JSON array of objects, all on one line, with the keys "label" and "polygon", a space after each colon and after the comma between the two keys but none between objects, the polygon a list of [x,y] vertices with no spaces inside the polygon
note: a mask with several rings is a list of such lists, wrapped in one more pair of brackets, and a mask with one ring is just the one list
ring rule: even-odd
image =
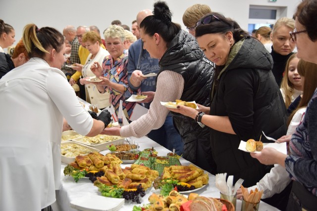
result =
[{"label": "woman with blonde-streaked ponytail in white shirt and black glove, serving", "polygon": [[1,211],[50,210],[60,182],[62,129],[95,136],[110,122],[106,110],[91,117],[60,71],[60,32],[28,24],[23,43],[30,60],[0,80]]}]

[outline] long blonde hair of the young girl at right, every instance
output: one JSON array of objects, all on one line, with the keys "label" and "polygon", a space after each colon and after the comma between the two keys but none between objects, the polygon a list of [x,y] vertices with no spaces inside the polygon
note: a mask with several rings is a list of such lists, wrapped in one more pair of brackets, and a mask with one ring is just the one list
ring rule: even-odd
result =
[{"label": "long blonde hair of the young girl at right", "polygon": [[292,103],[292,95],[294,93],[294,85],[289,81],[288,78],[288,68],[289,63],[294,59],[297,58],[297,53],[293,53],[287,60],[285,70],[284,70],[284,76],[281,83],[281,89],[284,91],[285,95],[285,106],[286,108],[289,107],[289,105]]}]

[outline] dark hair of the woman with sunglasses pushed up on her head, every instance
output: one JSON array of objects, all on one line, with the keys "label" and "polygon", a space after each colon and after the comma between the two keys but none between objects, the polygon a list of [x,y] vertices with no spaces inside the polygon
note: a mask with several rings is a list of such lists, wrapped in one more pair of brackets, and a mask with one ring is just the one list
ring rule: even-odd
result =
[{"label": "dark hair of the woman with sunglasses pushed up on her head", "polygon": [[[205,23],[207,19],[210,19],[210,21]],[[197,26],[198,23],[201,24]],[[196,26],[196,38],[206,34],[226,34],[227,32],[232,33],[235,42],[250,37],[249,33],[241,29],[236,21],[231,18],[226,18],[217,12],[211,12],[208,15],[205,15],[196,23]]]}]

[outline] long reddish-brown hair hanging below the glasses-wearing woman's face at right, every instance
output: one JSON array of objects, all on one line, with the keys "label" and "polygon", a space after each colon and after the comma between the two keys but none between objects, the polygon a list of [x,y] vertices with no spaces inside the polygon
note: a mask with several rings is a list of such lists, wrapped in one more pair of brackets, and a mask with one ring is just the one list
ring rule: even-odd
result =
[{"label": "long reddish-brown hair hanging below the glasses-wearing woman's face at right", "polygon": [[288,118],[288,125],[290,124],[294,114],[301,108],[307,107],[317,88],[317,64],[299,60],[297,64],[298,74],[304,77],[303,97],[299,102],[297,108],[292,112]]}]

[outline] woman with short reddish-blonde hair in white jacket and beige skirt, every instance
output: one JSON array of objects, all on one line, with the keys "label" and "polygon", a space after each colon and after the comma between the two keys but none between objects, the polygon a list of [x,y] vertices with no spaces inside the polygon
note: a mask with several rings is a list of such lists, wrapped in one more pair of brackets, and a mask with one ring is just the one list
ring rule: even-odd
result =
[{"label": "woman with short reddish-blonde hair in white jacket and beige skirt", "polygon": [[95,84],[91,84],[86,81],[89,77],[96,77],[90,70],[90,67],[94,62],[102,64],[104,58],[109,55],[109,52],[101,47],[101,37],[96,32],[87,32],[84,34],[82,41],[86,44],[86,48],[90,54],[87,57],[86,63],[82,66],[83,79],[80,79],[80,84],[85,84],[86,87],[86,101],[95,104],[98,108],[103,109],[110,106],[109,92],[101,94]]}]

